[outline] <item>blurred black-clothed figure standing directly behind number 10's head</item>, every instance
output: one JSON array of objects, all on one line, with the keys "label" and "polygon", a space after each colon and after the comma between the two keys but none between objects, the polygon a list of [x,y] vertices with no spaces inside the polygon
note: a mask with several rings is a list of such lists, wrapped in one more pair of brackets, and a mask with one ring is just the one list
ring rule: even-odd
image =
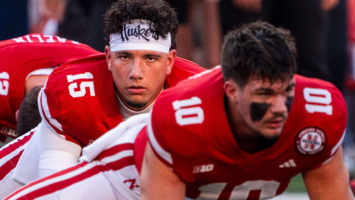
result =
[{"label": "blurred black-clothed figure standing directly behind number 10's head", "polygon": [[298,50],[297,74],[330,80],[327,66],[327,18],[320,0],[263,0],[262,19],[291,31]]}]

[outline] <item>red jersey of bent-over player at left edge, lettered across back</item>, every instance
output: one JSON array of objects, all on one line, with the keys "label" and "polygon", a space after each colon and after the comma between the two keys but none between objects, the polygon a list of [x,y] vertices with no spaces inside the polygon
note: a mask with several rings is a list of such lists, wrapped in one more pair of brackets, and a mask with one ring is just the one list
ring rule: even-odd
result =
[{"label": "red jersey of bent-over player at left edge, lettered across back", "polygon": [[16,137],[15,112],[25,96],[27,75],[97,53],[86,44],[43,34],[0,41],[0,133]]}]

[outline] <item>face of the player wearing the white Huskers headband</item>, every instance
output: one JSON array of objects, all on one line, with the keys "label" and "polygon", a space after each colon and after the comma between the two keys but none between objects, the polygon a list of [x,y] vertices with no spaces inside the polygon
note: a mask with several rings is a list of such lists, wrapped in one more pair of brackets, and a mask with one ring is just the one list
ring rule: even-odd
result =
[{"label": "face of the player wearing the white Huskers headband", "polygon": [[176,58],[176,50],[162,53],[150,50],[110,52],[105,48],[108,70],[122,102],[141,111],[158,97]]}]

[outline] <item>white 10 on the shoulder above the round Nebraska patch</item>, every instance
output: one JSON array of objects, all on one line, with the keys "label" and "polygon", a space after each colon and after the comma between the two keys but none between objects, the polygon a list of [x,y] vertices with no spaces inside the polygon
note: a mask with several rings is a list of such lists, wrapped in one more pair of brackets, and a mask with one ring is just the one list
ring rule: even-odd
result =
[{"label": "white 10 on the shoulder above the round Nebraska patch", "polygon": [[[303,95],[308,103],[305,108],[308,113],[325,113],[327,115],[333,114],[333,107],[329,105],[331,103],[331,94],[326,89],[305,87],[303,89]],[[321,105],[319,105],[321,104]]]}]

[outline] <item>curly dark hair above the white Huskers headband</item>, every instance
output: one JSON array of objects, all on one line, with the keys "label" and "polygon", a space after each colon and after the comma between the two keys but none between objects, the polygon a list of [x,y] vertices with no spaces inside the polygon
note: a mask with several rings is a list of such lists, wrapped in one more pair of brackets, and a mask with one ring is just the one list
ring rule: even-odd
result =
[{"label": "curly dark hair above the white Huskers headband", "polygon": [[[176,49],[178,32],[178,17],[175,10],[164,0],[117,0],[104,15],[104,31],[106,39],[109,34],[118,33],[123,24],[131,20],[148,20],[162,38],[171,34],[171,49]],[[150,24],[150,25],[151,25]]]}]

